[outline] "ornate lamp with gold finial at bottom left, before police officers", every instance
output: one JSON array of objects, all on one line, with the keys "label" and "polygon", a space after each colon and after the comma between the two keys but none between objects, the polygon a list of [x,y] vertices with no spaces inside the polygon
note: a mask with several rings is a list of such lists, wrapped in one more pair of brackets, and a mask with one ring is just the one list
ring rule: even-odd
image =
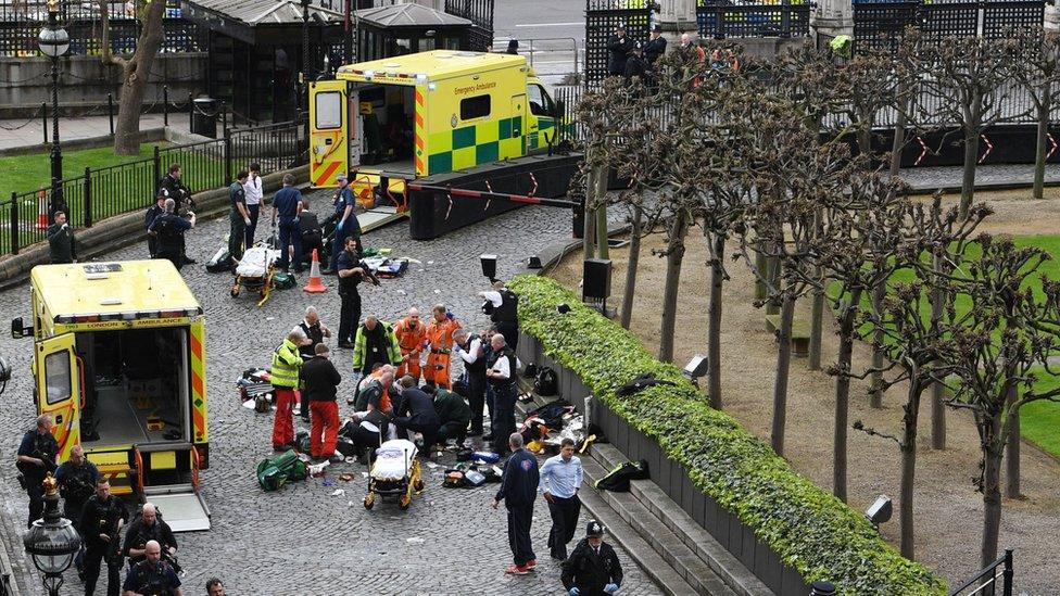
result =
[{"label": "ornate lamp with gold finial at bottom left, before police officers", "polygon": [[50,596],[59,596],[63,586],[63,571],[70,569],[74,554],[81,547],[81,537],[74,524],[59,513],[59,483],[49,473],[45,485],[45,518],[34,522],[23,537],[26,553],[34,567],[45,574],[43,584]]}]

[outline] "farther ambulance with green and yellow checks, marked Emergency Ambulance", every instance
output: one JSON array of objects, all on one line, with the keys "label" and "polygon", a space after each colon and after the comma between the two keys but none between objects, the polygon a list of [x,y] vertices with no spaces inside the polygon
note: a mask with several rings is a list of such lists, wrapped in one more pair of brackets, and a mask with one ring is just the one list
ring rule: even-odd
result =
[{"label": "farther ambulance with green and yellow checks, marked Emergency Ambulance", "polygon": [[341,66],[310,85],[310,174],[355,190],[546,149],[557,106],[520,55],[434,50]]}]

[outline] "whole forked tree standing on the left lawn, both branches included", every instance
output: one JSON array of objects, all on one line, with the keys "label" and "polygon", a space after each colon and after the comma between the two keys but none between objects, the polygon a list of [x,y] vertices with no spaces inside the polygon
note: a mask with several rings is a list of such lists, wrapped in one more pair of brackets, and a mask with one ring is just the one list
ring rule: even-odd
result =
[{"label": "whole forked tree standing on the left lawn, both branches included", "polygon": [[108,0],[96,0],[102,23],[103,64],[114,64],[122,68],[122,92],[118,99],[117,122],[114,124],[114,152],[118,155],[140,153],[140,107],[147,91],[151,65],[165,39],[162,17],[165,16],[164,0],[139,0],[136,16],[140,20],[140,37],[136,51],[129,58],[111,52],[111,18]]}]

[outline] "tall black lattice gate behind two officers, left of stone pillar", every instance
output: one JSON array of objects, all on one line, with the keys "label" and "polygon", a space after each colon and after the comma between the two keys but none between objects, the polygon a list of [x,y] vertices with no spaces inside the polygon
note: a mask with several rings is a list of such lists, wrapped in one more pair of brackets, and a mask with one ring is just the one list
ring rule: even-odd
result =
[{"label": "tall black lattice gate behind two officers, left of stone pillar", "polygon": [[607,40],[626,25],[633,41],[647,41],[652,9],[648,0],[585,0],[585,85],[607,78]]}]

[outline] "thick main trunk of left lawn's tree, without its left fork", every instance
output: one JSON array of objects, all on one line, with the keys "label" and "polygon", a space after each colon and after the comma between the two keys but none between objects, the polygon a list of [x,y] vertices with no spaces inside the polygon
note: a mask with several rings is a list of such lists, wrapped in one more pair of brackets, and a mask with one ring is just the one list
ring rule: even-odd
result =
[{"label": "thick main trunk of left lawn's tree, without its left fork", "polygon": [[114,124],[114,153],[118,155],[140,154],[140,106],[143,105],[151,65],[164,40],[162,16],[165,4],[162,0],[155,0],[146,7],[147,14],[141,20],[143,29],[136,42],[136,52],[123,66],[122,97]]}]

